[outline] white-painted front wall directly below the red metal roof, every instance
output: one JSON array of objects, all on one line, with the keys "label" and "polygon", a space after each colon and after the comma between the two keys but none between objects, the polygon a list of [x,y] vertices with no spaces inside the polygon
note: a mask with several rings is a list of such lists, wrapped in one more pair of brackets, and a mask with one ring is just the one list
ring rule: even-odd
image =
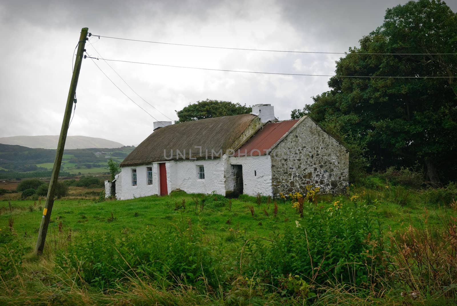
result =
[{"label": "white-painted front wall directly below the red metal roof", "polygon": [[[272,195],[271,189],[271,158],[263,156],[231,156],[230,165],[243,166],[243,193],[255,196]],[[254,174],[256,172],[256,175]]]}]

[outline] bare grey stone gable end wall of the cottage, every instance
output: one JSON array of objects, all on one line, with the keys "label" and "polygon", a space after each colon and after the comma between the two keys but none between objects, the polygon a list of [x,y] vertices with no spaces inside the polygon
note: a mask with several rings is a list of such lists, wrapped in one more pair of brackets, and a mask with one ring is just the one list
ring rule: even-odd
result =
[{"label": "bare grey stone gable end wall of the cottage", "polygon": [[270,153],[273,194],[304,192],[307,185],[322,193],[341,193],[348,185],[349,153],[311,118],[304,118]]}]

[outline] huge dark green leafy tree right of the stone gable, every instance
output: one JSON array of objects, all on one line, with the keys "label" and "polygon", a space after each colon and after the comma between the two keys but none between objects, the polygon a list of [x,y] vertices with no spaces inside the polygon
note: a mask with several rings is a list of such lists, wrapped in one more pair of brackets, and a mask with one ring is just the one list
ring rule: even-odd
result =
[{"label": "huge dark green leafy tree right of the stone gable", "polygon": [[456,75],[457,14],[440,0],[409,1],[336,62],[310,116],[356,145],[371,170],[419,163],[437,186],[457,177]]}]

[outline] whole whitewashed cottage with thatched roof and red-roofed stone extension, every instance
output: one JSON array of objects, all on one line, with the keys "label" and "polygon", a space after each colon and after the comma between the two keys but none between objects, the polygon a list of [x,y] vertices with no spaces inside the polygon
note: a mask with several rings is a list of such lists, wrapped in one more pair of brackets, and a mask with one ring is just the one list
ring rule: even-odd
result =
[{"label": "whole whitewashed cottage with thatched roof and red-roofed stone extension", "polygon": [[349,153],[311,118],[277,121],[273,107],[171,124],[154,131],[121,163],[106,196],[133,199],[187,193],[277,195],[307,185],[337,193],[348,183]]}]

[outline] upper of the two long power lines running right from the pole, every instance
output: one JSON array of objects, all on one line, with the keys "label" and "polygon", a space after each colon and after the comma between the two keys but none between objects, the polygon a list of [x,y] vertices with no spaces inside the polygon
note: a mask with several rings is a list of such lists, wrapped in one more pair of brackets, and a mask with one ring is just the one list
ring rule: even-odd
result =
[{"label": "upper of the two long power lines running right from the pole", "polygon": [[[289,51],[289,50],[269,50],[269,49],[251,49],[251,48],[229,48],[229,47],[215,47],[215,46],[202,46],[202,45],[191,45],[185,43],[164,43],[154,42],[149,40],[131,39],[131,38],[119,38],[111,36],[93,35],[89,33],[89,36],[96,36],[98,38],[112,38],[120,40],[128,40],[133,42],[141,43],[159,43],[164,45],[173,46],[184,46],[184,47],[197,47],[197,48],[213,48],[213,49],[227,49],[227,50],[244,50],[244,51],[266,51],[266,52],[285,52],[285,53],[310,53],[310,54],[348,54],[347,52],[317,52],[317,51]],[[349,53],[349,54],[371,54],[371,55],[457,55],[457,53]]]}]

